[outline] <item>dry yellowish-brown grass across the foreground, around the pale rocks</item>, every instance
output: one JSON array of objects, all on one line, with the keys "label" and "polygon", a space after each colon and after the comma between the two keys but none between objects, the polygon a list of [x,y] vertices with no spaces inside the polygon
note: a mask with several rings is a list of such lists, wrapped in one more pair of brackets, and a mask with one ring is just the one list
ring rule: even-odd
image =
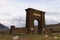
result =
[{"label": "dry yellowish-brown grass across the foreground, around the pale rocks", "polygon": [[[57,36],[58,38],[54,38]],[[0,40],[12,40],[13,35],[0,35]],[[19,35],[18,40],[60,40],[60,33],[49,34],[49,37],[45,37],[40,34],[25,34]]]}]

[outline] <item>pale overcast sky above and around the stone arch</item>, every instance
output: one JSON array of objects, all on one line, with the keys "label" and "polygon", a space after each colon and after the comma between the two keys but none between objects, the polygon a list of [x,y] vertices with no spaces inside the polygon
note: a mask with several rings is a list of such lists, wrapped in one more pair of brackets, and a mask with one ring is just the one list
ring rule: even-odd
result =
[{"label": "pale overcast sky above and around the stone arch", "polygon": [[60,23],[60,0],[0,0],[0,23],[25,26],[25,9],[30,7],[46,12],[46,24]]}]

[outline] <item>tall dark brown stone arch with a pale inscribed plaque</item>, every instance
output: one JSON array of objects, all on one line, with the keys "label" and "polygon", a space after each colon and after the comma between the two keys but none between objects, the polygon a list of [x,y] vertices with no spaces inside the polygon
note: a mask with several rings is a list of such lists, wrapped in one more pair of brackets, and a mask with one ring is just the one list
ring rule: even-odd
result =
[{"label": "tall dark brown stone arch with a pale inscribed plaque", "polygon": [[[43,28],[45,28],[45,12],[36,9],[26,9],[26,28],[27,33],[31,33],[31,28],[34,29],[34,20],[38,20],[38,32],[42,34]],[[34,30],[33,30],[34,31]]]}]

